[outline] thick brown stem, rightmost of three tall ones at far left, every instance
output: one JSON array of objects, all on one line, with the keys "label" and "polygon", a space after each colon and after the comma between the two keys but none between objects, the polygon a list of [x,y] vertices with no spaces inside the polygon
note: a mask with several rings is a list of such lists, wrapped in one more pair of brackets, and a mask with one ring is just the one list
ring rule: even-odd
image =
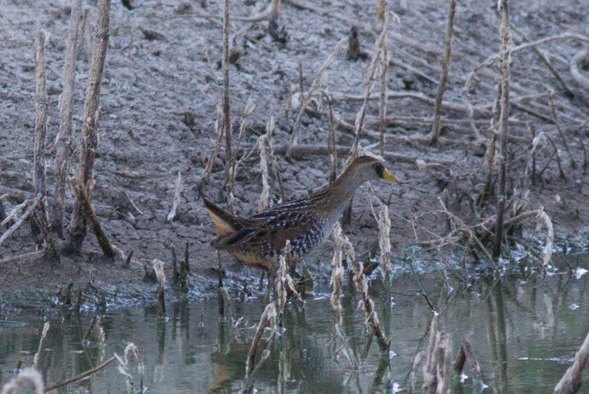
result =
[{"label": "thick brown stem, rightmost of three tall ones at far left", "polygon": [[[78,180],[88,195],[92,198],[92,170],[98,147],[98,105],[100,101],[100,84],[104,59],[106,57],[110,22],[110,0],[101,0],[98,6],[96,33],[92,48],[92,67],[88,77],[88,88],[84,102],[84,120],[82,121],[82,135],[80,139],[80,170]],[[79,253],[86,237],[86,218],[81,201],[76,201],[71,222],[71,239],[68,250]]]}]

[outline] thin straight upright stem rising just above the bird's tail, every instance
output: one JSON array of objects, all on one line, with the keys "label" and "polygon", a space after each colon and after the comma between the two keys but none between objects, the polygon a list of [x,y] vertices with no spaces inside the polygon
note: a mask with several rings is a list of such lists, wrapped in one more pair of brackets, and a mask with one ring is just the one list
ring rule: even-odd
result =
[{"label": "thin straight upright stem rising just above the bird's tail", "polygon": [[228,184],[233,168],[229,108],[229,0],[223,1],[223,134],[225,135],[225,184]]}]

